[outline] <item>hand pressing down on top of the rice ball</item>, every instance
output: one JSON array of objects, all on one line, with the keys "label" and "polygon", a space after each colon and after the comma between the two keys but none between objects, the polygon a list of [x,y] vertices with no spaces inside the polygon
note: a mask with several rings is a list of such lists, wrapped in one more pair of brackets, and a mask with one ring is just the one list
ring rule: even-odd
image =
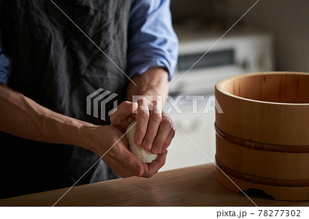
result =
[{"label": "hand pressing down on top of the rice ball", "polygon": [[122,132],[135,119],[135,143],[153,154],[165,152],[172,142],[175,130],[172,120],[162,112],[160,104],[156,101],[149,102],[146,98],[137,100],[137,103],[125,101],[111,115],[111,123]]}]

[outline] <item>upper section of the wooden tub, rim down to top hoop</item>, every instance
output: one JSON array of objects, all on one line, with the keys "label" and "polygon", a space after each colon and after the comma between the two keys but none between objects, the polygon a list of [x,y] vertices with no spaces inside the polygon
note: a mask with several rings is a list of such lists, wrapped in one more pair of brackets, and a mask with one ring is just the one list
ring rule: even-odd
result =
[{"label": "upper section of the wooden tub, rim down to top hoop", "polygon": [[[290,79],[290,85],[286,76],[294,77]],[[288,93],[282,84],[286,84],[286,87],[294,86],[295,91]],[[277,145],[309,146],[308,84],[309,73],[288,72],[251,73],[222,80],[216,84],[215,90],[216,100],[223,111],[216,111],[216,126],[241,139]],[[276,97],[270,95],[272,92]],[[249,97],[252,99],[247,99]],[[292,102],[293,97],[299,103],[284,103],[284,100]],[[271,100],[274,102],[266,102]],[[279,100],[282,102],[279,103]]]}]

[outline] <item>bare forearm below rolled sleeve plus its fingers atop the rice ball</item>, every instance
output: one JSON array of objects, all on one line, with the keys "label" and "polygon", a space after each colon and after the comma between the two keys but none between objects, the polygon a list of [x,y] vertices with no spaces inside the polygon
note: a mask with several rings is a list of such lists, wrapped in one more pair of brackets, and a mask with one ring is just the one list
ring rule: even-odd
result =
[{"label": "bare forearm below rolled sleeve plus its fingers atop the rice ball", "polygon": [[[128,100],[132,101],[133,95],[145,95],[148,99],[137,102],[139,106],[134,116],[137,121],[135,143],[150,150],[152,154],[163,154],[175,133],[172,119],[162,111],[168,95],[168,72],[161,67],[148,69],[135,76],[133,81],[137,86],[128,84]],[[149,111],[144,110],[145,108]]]}]

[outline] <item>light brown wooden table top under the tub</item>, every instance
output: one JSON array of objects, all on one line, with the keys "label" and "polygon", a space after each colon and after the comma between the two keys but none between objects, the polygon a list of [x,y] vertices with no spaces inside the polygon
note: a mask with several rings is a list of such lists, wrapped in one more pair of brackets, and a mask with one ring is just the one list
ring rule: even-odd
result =
[{"label": "light brown wooden table top under the tub", "polygon": [[[0,206],[52,206],[67,189],[0,200]],[[258,206],[309,206],[309,201],[278,201],[246,192]],[[214,164],[159,172],[152,178],[119,178],[73,187],[56,206],[253,206],[242,193],[216,179]]]}]

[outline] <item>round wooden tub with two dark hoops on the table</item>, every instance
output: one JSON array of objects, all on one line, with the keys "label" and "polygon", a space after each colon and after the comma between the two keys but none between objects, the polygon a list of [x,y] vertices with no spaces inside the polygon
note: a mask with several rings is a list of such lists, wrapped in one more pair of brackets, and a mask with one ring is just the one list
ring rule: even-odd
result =
[{"label": "round wooden tub with two dark hoops on the table", "polygon": [[215,94],[220,183],[309,200],[309,73],[234,76],[218,82]]}]

